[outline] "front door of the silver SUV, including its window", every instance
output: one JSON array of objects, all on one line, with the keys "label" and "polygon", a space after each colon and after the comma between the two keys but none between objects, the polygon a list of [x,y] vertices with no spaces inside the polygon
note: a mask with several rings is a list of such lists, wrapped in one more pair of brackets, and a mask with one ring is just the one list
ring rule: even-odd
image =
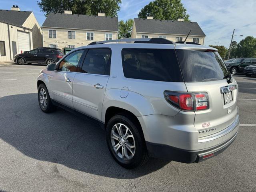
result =
[{"label": "front door of the silver SUV, including its window", "polygon": [[77,50],[64,57],[50,77],[50,92],[53,100],[73,108],[73,80],[84,50]]}]

